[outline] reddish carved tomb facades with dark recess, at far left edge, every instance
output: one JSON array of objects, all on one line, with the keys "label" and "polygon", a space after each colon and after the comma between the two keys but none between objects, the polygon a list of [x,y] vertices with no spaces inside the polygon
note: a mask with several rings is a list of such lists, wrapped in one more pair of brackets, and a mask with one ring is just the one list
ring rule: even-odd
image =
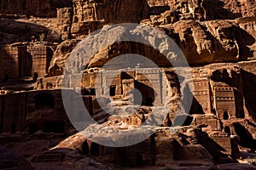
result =
[{"label": "reddish carved tomb facades with dark recess, at far left edge", "polygon": [[53,49],[45,44],[17,43],[0,47],[0,82],[22,77],[44,77],[48,73]]}]

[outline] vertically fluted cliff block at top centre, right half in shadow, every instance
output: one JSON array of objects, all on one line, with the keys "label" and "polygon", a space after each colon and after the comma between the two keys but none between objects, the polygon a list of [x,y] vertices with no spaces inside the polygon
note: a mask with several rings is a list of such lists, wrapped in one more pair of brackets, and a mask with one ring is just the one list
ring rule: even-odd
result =
[{"label": "vertically fluted cliff block at top centre, right half in shadow", "polygon": [[73,23],[102,21],[108,23],[137,23],[148,17],[146,1],[73,1]]}]

